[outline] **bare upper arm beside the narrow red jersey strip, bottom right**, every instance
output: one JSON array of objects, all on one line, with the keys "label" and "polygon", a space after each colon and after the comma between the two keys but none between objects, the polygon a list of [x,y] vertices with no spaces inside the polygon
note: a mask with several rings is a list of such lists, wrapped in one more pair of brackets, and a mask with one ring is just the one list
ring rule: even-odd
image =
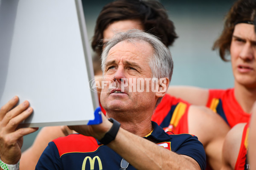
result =
[{"label": "bare upper arm beside the narrow red jersey strip, bottom right", "polygon": [[239,123],[227,133],[222,150],[223,164],[221,170],[235,169],[245,125],[245,123]]}]

